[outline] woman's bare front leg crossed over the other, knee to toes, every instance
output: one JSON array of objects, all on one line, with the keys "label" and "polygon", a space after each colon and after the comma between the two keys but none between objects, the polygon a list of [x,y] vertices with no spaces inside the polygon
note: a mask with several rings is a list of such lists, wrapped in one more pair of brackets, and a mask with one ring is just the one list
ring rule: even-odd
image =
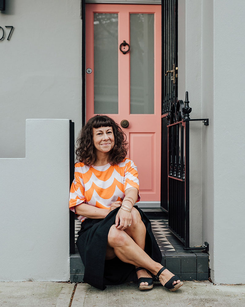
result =
[{"label": "woman's bare front leg crossed over the other, knee to toes", "polygon": [[[142,266],[154,275],[162,268],[160,263],[153,261],[125,231],[117,229],[115,225],[111,226],[108,233],[108,246],[113,248],[115,255],[123,262]],[[172,276],[170,271],[164,270],[159,281],[164,285]],[[175,281],[174,284],[179,282]]]}]

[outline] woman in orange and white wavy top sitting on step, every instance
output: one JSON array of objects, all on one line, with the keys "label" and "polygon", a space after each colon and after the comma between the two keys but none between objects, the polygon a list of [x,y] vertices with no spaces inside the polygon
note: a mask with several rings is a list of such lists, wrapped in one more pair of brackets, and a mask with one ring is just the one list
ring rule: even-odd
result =
[{"label": "woman in orange and white wavy top sitting on step", "polygon": [[77,139],[77,162],[70,209],[82,222],[77,248],[85,266],[84,282],[105,289],[125,282],[136,269],[138,287],[153,280],[170,291],[183,285],[160,263],[162,255],[140,200],[137,167],[126,157],[126,135],[113,119],[96,115]]}]

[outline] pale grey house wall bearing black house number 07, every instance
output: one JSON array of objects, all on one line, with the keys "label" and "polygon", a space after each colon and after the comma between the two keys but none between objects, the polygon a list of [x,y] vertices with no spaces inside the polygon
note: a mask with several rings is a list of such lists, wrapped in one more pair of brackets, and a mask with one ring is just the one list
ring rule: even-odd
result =
[{"label": "pale grey house wall bearing black house number 07", "polygon": [[8,0],[5,25],[14,30],[0,41],[0,157],[25,157],[27,118],[72,119],[75,135],[81,128],[80,0]]}]

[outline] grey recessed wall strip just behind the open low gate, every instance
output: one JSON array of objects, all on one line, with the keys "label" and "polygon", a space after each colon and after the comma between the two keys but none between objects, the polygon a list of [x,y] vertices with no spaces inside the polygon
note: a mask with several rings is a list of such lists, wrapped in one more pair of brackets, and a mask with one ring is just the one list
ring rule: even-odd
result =
[{"label": "grey recessed wall strip just behind the open low gate", "polygon": [[[179,0],[178,98],[189,92],[190,118],[201,118],[201,0]],[[190,246],[202,241],[202,122],[190,122]]]}]

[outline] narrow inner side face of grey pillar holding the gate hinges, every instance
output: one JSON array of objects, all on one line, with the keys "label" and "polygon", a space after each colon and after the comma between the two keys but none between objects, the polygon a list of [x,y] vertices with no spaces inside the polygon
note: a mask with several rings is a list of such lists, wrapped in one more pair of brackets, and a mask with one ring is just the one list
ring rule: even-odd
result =
[{"label": "narrow inner side face of grey pillar holding the gate hinges", "polygon": [[209,268],[213,279],[214,261],[214,191],[213,191],[213,0],[202,1],[202,242],[209,243]]}]

